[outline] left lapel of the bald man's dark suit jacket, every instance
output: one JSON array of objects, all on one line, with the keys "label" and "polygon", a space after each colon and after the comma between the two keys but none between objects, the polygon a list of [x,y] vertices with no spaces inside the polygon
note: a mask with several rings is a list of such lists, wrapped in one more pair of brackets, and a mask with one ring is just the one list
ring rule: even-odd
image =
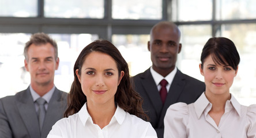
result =
[{"label": "left lapel of the bald man's dark suit jacket", "polygon": [[142,75],[141,78],[142,85],[146,93],[148,94],[150,101],[152,101],[155,110],[158,114],[161,113],[161,108],[159,107],[162,107],[163,104],[161,102],[160,94],[157,90],[156,82],[154,81],[153,76],[150,72],[150,68],[145,71],[145,74]]}]

